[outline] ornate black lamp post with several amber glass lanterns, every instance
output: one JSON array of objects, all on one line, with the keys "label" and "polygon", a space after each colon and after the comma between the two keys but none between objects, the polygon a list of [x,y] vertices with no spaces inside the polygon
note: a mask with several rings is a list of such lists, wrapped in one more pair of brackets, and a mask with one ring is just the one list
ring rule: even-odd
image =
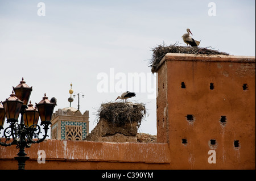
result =
[{"label": "ornate black lamp post with several amber glass lanterns", "polygon": [[[31,102],[27,106],[32,87],[28,87],[23,78],[18,86],[13,87],[13,90],[10,97],[2,102],[3,106],[0,104],[0,132],[3,129],[5,117],[7,119],[6,122],[10,124],[3,131],[5,141],[2,142],[0,138],[0,145],[16,145],[19,153],[17,154],[18,157],[14,157],[14,159],[18,161],[19,169],[24,170],[25,162],[30,158],[26,156],[27,154],[24,149],[30,148],[31,144],[39,144],[46,139],[49,125],[52,124],[51,116],[55,104],[51,103],[46,94],[44,94],[43,100],[36,104],[36,108],[33,107]],[[18,124],[19,114],[21,117],[20,123]],[[40,125],[44,129],[42,138],[39,138],[39,133],[41,133],[41,128],[38,125],[39,117],[41,119]],[[13,140],[9,142],[11,138]],[[33,140],[33,138],[36,138],[36,140]]]}]

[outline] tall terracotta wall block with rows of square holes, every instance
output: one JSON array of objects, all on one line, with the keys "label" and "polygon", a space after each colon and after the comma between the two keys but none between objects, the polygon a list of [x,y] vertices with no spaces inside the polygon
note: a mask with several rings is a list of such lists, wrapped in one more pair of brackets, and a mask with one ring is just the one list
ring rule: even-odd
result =
[{"label": "tall terracotta wall block with rows of square holes", "polygon": [[255,169],[255,57],[168,53],[157,72],[158,142],[173,169]]}]

